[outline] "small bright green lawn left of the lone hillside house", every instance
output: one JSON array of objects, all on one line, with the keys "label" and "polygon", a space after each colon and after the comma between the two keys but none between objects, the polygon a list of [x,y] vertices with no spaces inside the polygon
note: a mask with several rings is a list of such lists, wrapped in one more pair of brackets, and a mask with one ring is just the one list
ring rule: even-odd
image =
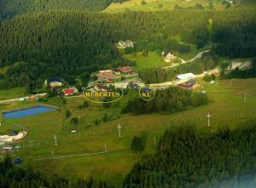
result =
[{"label": "small bright green lawn left of the lone hillside house", "polygon": [[123,57],[128,60],[136,61],[137,66],[134,67],[135,71],[147,68],[170,66],[169,63],[166,63],[163,60],[160,54],[156,54],[155,52],[148,52],[148,56],[143,56],[141,52],[138,52],[136,57],[132,54],[125,54]]}]

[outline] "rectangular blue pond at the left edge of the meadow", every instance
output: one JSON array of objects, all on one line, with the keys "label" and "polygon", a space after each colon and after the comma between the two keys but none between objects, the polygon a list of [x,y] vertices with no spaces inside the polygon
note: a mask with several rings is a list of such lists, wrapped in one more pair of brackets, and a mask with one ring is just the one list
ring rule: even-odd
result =
[{"label": "rectangular blue pond at the left edge of the meadow", "polygon": [[15,111],[5,111],[3,112],[3,117],[5,118],[20,118],[20,117],[28,117],[48,111],[55,111],[55,107],[37,105],[29,108],[18,109]]}]

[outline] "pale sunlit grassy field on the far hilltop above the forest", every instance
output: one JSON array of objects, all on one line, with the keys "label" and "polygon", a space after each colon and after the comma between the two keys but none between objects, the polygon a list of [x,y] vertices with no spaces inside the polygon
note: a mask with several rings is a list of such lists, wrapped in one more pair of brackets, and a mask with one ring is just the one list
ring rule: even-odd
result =
[{"label": "pale sunlit grassy field on the far hilltop above the forest", "polygon": [[[223,1],[215,0],[213,6],[215,9],[224,9]],[[130,9],[132,11],[160,11],[160,10],[172,10],[177,4],[179,7],[187,8],[195,6],[195,3],[200,3],[203,7],[207,9],[209,5],[208,0],[146,0],[146,4],[142,5],[142,0],[130,0],[124,3],[111,3],[104,12],[107,13],[117,13],[124,12],[125,9]],[[162,4],[162,8],[160,8]]]}]

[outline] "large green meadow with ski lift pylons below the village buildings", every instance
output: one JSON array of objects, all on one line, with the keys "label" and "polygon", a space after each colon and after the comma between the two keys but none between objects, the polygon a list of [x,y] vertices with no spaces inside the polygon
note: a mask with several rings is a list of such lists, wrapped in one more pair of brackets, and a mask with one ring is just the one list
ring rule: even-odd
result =
[{"label": "large green meadow with ski lift pylons below the village buildings", "polygon": [[[135,96],[136,91],[126,95],[110,108],[90,104],[89,108],[79,109],[78,105],[84,98],[71,98],[67,105],[59,110],[32,117],[4,120],[0,132],[13,128],[13,124],[20,124],[29,130],[26,139],[20,141],[22,150],[15,151],[14,155],[22,157],[22,164],[32,166],[45,174],[60,174],[68,179],[90,177],[108,179],[115,185],[120,185],[125,174],[129,172],[134,162],[141,157],[154,153],[156,141],[170,126],[179,126],[187,122],[195,122],[195,128],[201,133],[214,132],[220,123],[228,124],[230,128],[239,128],[241,122],[256,117],[256,79],[225,80],[215,84],[205,83],[204,88],[210,102],[198,108],[174,114],[150,114],[143,116],[121,115],[120,111],[129,98]],[[244,102],[243,94],[247,93]],[[20,108],[29,104],[13,103],[0,106],[1,111]],[[50,105],[58,105],[57,99],[49,100]],[[59,105],[61,106],[61,105]],[[63,113],[61,112],[61,109]],[[70,124],[70,118],[64,117],[66,109],[72,111],[71,117],[79,117],[79,125]],[[207,127],[207,113],[211,113],[211,127]],[[101,122],[95,125],[95,119],[100,119],[105,113],[113,115],[110,122]],[[122,137],[118,137],[118,123],[121,124]],[[72,134],[70,130],[77,129]],[[148,134],[145,151],[140,156],[131,155],[130,144],[134,135]],[[54,135],[58,145],[55,146]],[[37,161],[36,159],[61,157],[73,154],[104,151],[105,144],[108,153],[87,157],[67,157]],[[71,173],[72,172],[72,173]]]}]

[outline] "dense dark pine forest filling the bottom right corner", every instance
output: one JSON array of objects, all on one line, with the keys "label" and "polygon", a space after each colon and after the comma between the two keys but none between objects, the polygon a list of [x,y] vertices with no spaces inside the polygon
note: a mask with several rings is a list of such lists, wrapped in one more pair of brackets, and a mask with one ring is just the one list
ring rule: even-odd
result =
[{"label": "dense dark pine forest filling the bottom right corner", "polygon": [[156,154],[134,165],[124,187],[255,187],[255,122],[203,136],[192,127],[167,130]]}]

